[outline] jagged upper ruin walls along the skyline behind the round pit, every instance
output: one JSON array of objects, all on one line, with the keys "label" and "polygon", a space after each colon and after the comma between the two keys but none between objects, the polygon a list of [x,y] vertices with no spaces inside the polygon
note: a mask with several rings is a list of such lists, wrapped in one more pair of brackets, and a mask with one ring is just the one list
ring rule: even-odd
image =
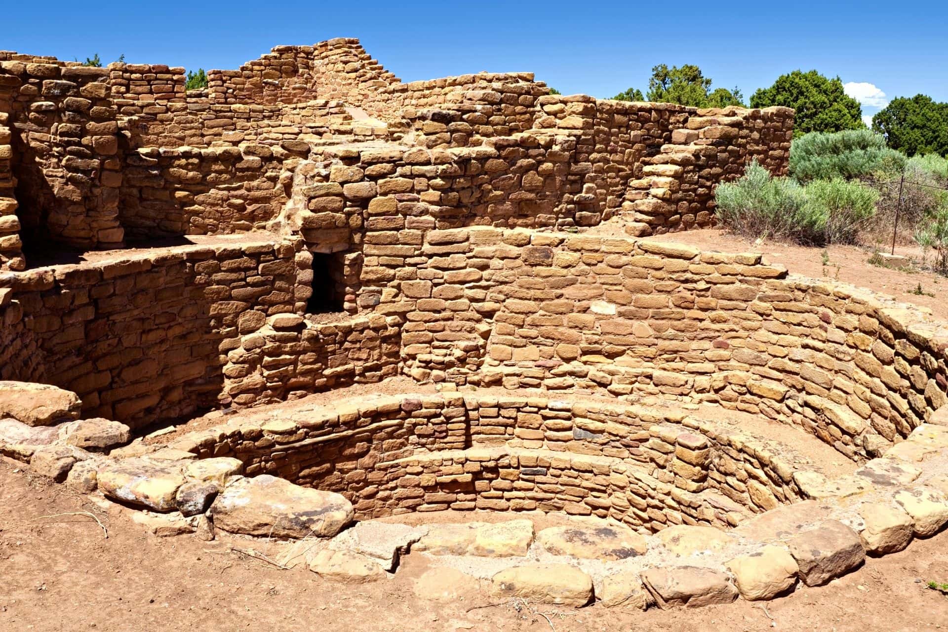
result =
[{"label": "jagged upper ruin walls along the skyline behind the round pit", "polygon": [[[555,96],[531,73],[403,84],[347,39],[278,46],[239,70],[211,71],[209,87],[191,93],[183,68],[0,57],[27,246],[112,248],[126,231],[146,241],[269,224],[284,235],[328,230],[308,241],[355,253],[392,197],[442,227],[586,228],[615,215],[637,235],[709,226],[714,186],[753,157],[782,172],[792,134],[782,108]],[[326,173],[310,170],[297,190],[294,159],[311,154]],[[329,173],[343,167],[356,168],[344,181]],[[333,182],[357,197],[329,187],[305,199]],[[319,217],[278,222],[293,198]],[[14,245],[12,229],[0,230]],[[0,265],[22,267],[7,252]]]}]

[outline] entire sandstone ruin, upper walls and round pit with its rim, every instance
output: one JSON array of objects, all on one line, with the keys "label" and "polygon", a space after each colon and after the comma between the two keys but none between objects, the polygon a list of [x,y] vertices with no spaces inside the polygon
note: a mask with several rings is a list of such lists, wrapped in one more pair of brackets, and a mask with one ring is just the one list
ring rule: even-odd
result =
[{"label": "entire sandstone ruin, upper walls and round pit with its rim", "polygon": [[[155,534],[332,538],[320,575],[497,545],[495,597],[568,605],[772,599],[948,524],[948,323],[646,239],[785,173],[792,110],[347,38],[208,77],[0,51],[0,453]],[[520,519],[392,523],[446,511]]]}]

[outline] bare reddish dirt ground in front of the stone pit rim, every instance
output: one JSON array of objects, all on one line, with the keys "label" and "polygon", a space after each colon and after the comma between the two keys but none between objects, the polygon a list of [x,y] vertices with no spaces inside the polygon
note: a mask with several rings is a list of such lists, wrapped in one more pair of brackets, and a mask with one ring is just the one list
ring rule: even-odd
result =
[{"label": "bare reddish dirt ground in front of the stone pit rim", "polygon": [[[345,586],[308,570],[280,570],[230,551],[233,541],[158,538],[120,512],[100,510],[62,485],[0,460],[0,630],[936,630],[948,597],[948,533],[869,560],[830,586],[760,605],[623,612],[599,605],[489,605],[485,594],[441,605],[419,599],[425,569],[409,555],[391,581]],[[247,543],[247,546],[252,546]],[[471,606],[489,605],[466,610]],[[539,613],[543,613],[546,617]],[[549,623],[547,619],[549,618]],[[772,619],[773,618],[773,621]],[[551,625],[552,623],[552,625]]]}]

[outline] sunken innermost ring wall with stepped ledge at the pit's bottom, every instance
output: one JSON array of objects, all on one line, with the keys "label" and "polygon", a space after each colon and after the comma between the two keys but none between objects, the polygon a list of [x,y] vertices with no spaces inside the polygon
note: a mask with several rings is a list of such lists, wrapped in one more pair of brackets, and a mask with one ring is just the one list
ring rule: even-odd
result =
[{"label": "sunken innermost ring wall with stepped ledge at the pit's bottom", "polygon": [[[279,417],[278,417],[279,415]],[[658,531],[734,526],[802,497],[797,450],[673,407],[443,393],[374,396],[235,420],[172,447],[235,457],[348,497],[357,519],[438,510],[565,512]],[[855,467],[855,466],[853,466]]]}]

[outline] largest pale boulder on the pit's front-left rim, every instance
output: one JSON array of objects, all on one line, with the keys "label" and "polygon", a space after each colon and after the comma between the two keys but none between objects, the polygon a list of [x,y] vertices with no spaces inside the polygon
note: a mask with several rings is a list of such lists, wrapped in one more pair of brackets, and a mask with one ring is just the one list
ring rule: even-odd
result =
[{"label": "largest pale boulder on the pit's front-left rim", "polygon": [[333,492],[262,475],[229,483],[209,514],[214,527],[230,533],[300,538],[332,537],[352,522],[354,511]]}]

